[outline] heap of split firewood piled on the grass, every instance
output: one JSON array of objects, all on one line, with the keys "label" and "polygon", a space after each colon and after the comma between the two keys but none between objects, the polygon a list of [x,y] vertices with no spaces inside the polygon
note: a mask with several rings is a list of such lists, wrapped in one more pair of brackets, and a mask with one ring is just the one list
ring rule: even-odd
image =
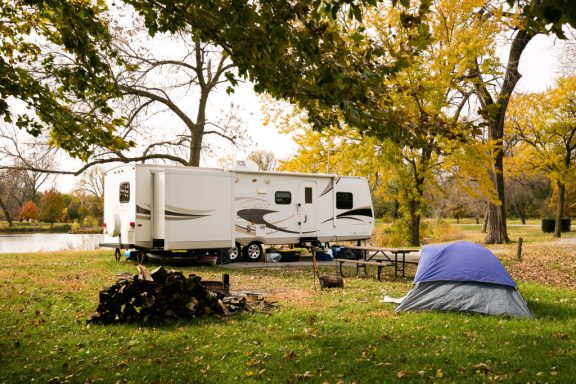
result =
[{"label": "heap of split firewood piled on the grass", "polygon": [[100,291],[100,303],[88,323],[142,323],[170,318],[229,316],[241,312],[269,311],[263,295],[229,293],[228,276],[223,282],[185,277],[178,271],[158,267],[149,272],[138,265],[139,274],[122,273],[110,288]]}]

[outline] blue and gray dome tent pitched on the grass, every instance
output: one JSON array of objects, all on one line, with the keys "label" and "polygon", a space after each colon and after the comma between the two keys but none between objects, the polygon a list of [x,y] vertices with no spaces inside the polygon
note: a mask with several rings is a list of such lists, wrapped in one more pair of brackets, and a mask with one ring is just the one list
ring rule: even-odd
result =
[{"label": "blue and gray dome tent pitched on the grass", "polygon": [[532,317],[502,263],[490,250],[467,241],[425,246],[414,288],[396,311]]}]

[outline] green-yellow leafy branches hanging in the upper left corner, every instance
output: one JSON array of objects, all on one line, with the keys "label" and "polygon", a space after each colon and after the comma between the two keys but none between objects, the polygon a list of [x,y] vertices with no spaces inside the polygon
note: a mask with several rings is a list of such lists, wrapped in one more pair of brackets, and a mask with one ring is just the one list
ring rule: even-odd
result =
[{"label": "green-yellow leafy branches hanging in the upper left corner", "polygon": [[0,116],[34,136],[50,131],[81,159],[95,144],[127,146],[114,134],[122,120],[108,104],[119,93],[105,9],[103,0],[0,0]]}]

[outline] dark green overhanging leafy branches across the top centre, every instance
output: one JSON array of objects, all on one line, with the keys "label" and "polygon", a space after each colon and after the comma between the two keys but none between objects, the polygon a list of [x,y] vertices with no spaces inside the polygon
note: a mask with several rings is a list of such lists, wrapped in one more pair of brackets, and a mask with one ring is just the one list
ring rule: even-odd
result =
[{"label": "dark green overhanging leafy branches across the top centre", "polygon": [[338,125],[343,116],[363,130],[397,132],[381,112],[386,99],[381,80],[428,37],[422,23],[427,2],[406,11],[403,21],[413,34],[398,51],[386,51],[358,22],[374,0],[127,2],[145,17],[152,34],[190,30],[221,46],[256,91],[305,108],[316,128]]}]

